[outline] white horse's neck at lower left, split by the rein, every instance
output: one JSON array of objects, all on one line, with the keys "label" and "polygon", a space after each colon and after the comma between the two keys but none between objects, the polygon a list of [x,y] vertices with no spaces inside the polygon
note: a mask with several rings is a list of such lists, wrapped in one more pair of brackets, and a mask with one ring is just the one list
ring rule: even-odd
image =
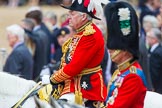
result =
[{"label": "white horse's neck at lower left, split by the rein", "polygon": [[[0,72],[0,108],[11,108],[16,104],[36,83],[14,75]],[[22,108],[35,108],[34,98],[27,99]]]}]

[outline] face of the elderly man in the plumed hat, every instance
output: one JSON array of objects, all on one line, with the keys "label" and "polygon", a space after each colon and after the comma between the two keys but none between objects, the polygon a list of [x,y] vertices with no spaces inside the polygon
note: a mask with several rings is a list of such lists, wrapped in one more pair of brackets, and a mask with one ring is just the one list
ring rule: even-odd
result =
[{"label": "face of the elderly man in the plumed hat", "polygon": [[80,22],[82,21],[82,15],[77,11],[69,11],[69,25],[75,30],[80,28]]}]

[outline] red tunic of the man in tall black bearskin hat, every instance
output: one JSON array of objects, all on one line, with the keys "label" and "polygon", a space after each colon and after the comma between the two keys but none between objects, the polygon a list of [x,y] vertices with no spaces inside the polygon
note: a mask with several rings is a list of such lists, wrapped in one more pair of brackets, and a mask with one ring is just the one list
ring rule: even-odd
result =
[{"label": "red tunic of the man in tall black bearskin hat", "polygon": [[144,86],[142,78],[136,73],[129,73],[123,79],[119,78],[120,75],[132,66],[136,69],[141,69],[139,63],[136,61],[127,69],[121,70],[117,75],[116,80],[119,81],[120,86],[117,87],[111,94],[108,100],[107,108],[143,108],[144,98],[146,95],[146,87]]}]

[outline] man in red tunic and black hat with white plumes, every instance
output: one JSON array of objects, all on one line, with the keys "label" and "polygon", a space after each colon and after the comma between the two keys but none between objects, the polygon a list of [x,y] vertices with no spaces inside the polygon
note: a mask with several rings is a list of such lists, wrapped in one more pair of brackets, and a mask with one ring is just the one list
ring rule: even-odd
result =
[{"label": "man in red tunic and black hat with white plumes", "polygon": [[70,7],[63,6],[70,10],[69,25],[76,34],[63,45],[60,69],[50,80],[54,85],[64,82],[59,99],[95,108],[106,100],[107,89],[101,69],[104,40],[101,31],[92,23],[92,18],[99,19],[95,15],[102,13],[102,7],[98,10],[89,7],[90,3],[93,0],[75,0]]}]

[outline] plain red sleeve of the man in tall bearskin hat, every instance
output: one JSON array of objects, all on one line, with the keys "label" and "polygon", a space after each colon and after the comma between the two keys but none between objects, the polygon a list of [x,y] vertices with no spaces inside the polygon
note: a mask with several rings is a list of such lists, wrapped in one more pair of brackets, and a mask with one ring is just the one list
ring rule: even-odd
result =
[{"label": "plain red sleeve of the man in tall bearskin hat", "polygon": [[118,88],[114,103],[107,108],[143,108],[146,88],[141,78],[136,74],[127,75]]}]

